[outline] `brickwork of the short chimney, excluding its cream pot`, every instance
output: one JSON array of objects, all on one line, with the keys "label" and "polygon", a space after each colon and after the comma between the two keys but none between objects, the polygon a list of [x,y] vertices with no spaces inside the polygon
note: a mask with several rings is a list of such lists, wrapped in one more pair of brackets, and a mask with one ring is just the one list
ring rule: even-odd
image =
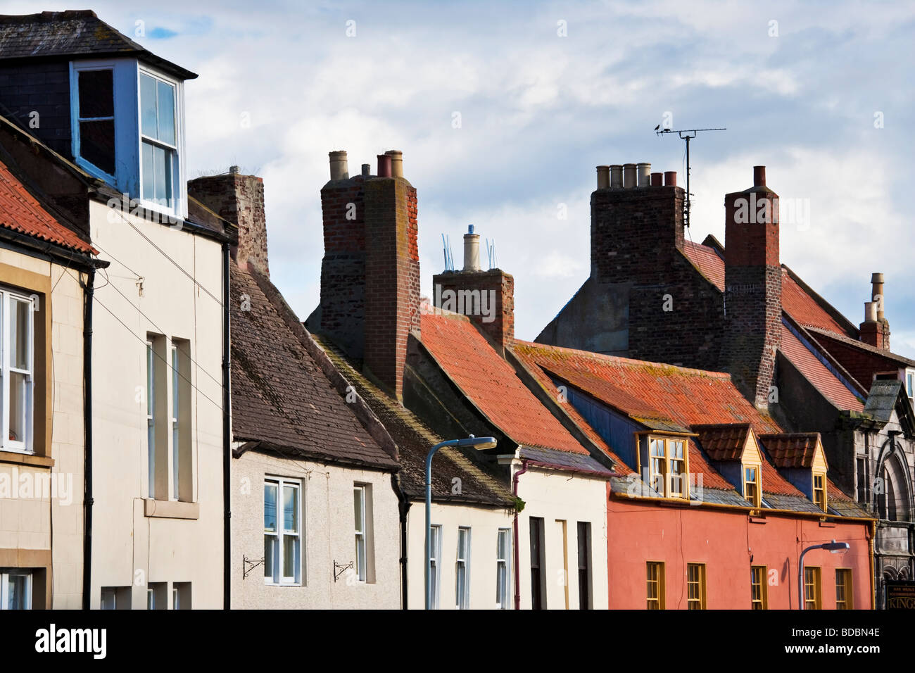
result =
[{"label": "brickwork of the short chimney, excluding its cream pot", "polygon": [[501,269],[447,271],[434,276],[432,284],[433,301],[440,308],[442,304],[448,308],[447,301],[439,301],[447,298],[448,290],[456,294],[461,291],[472,293],[467,295],[468,300],[458,302],[455,310],[468,316],[502,348],[514,342],[514,277],[511,274]]}]

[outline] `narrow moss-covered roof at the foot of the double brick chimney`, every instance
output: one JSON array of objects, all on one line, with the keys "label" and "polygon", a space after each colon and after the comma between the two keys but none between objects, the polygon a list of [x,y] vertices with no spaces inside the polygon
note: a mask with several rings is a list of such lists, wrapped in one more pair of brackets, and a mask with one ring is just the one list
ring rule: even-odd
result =
[{"label": "narrow moss-covered roof at the foot of the double brick chimney", "polygon": [[[444,438],[412,411],[371,383],[328,337],[313,334],[312,339],[328,354],[330,361],[355,388],[397,444],[399,474],[404,493],[414,500],[424,499],[425,454]],[[504,507],[512,505],[508,486],[469,459],[461,450],[455,447],[440,449],[433,460],[433,500]],[[452,493],[455,478],[460,479],[461,494]]]}]

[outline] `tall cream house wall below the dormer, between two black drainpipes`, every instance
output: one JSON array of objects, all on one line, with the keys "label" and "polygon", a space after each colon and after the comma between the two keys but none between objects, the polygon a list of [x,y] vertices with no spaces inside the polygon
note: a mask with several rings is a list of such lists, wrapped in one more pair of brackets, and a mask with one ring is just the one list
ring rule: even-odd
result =
[{"label": "tall cream house wall below the dormer, between two black drainpipes", "polygon": [[[132,607],[145,609],[147,582],[167,582],[170,590],[178,581],[191,582],[194,608],[221,608],[221,246],[110,212],[94,201],[90,221],[100,257],[112,263],[96,282],[93,316],[92,607],[99,606],[102,587],[132,586]],[[136,275],[143,277],[142,295]],[[196,362],[191,366],[196,519],[145,516],[147,331],[187,339]],[[169,450],[169,460],[170,455]]]}]

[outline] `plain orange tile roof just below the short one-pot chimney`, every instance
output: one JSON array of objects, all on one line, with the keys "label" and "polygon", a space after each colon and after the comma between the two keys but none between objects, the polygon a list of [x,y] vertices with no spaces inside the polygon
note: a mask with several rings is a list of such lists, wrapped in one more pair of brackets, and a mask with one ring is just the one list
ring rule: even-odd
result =
[{"label": "plain orange tile roof just below the short one-pot chimney", "polygon": [[424,313],[421,341],[490,422],[520,444],[587,454],[465,316]]}]

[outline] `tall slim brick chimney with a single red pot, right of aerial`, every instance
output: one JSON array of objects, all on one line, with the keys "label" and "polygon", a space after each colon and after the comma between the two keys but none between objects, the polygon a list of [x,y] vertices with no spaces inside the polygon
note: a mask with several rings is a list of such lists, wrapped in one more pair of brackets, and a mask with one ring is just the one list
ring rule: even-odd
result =
[{"label": "tall slim brick chimney with a single red pot, right of aerial", "polygon": [[779,196],[766,186],[766,167],[753,167],[753,187],[725,195],[725,218],[722,366],[764,407],[781,345]]}]

